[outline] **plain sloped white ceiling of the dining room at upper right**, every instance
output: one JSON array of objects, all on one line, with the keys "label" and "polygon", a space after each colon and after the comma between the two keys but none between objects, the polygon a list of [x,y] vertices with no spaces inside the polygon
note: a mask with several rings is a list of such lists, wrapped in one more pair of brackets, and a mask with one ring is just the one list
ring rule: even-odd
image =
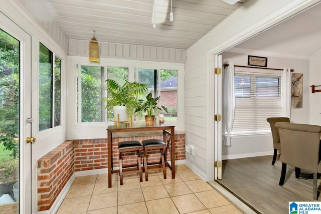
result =
[{"label": "plain sloped white ceiling of the dining room at upper right", "polygon": [[250,50],[268,55],[309,59],[321,50],[321,4],[281,22],[231,50]]}]

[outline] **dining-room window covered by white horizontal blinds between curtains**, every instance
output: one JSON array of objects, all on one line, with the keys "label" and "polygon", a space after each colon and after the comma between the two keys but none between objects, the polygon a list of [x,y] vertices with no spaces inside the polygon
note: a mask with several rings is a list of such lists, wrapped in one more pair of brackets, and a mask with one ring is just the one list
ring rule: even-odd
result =
[{"label": "dining-room window covered by white horizontal blinds between curtains", "polygon": [[280,76],[236,73],[234,87],[235,116],[232,133],[269,131],[266,118],[281,116]]}]

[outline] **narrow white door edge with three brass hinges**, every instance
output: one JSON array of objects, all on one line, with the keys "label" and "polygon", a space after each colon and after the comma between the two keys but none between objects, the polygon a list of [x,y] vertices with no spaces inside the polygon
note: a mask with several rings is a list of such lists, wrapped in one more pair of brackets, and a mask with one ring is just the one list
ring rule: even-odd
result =
[{"label": "narrow white door edge with three brass hinges", "polygon": [[[215,55],[215,99],[214,99],[214,114],[222,115],[222,55]],[[219,117],[214,124],[214,179],[222,179],[222,120]]]}]

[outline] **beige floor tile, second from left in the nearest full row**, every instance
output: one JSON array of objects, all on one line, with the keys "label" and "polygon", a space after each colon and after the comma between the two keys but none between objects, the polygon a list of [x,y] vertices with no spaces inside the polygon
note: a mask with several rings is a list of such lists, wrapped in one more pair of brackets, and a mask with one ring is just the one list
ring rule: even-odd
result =
[{"label": "beige floor tile, second from left in the nearest full row", "polygon": [[117,192],[94,194],[91,196],[88,210],[117,206]]}]

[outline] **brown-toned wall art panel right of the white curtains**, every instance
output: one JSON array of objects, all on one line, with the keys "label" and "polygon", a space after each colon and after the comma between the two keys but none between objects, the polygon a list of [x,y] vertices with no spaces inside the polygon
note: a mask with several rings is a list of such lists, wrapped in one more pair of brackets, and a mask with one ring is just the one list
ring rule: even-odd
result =
[{"label": "brown-toned wall art panel right of the white curtains", "polygon": [[303,74],[292,73],[291,108],[303,106]]}]

